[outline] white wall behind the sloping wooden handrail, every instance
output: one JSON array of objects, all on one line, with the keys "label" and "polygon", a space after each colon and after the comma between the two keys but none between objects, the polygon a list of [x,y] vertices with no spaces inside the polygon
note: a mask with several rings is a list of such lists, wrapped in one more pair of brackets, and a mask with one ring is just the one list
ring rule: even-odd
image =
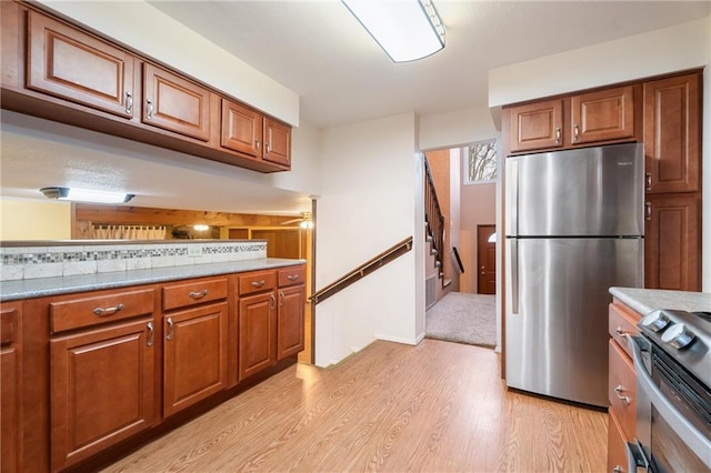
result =
[{"label": "white wall behind the sloping wooden handrail", "polygon": [[337,363],[375,339],[417,343],[423,336],[415,125],[407,113],[322,131],[317,290],[410,235],[414,251],[317,305],[318,365]]}]

